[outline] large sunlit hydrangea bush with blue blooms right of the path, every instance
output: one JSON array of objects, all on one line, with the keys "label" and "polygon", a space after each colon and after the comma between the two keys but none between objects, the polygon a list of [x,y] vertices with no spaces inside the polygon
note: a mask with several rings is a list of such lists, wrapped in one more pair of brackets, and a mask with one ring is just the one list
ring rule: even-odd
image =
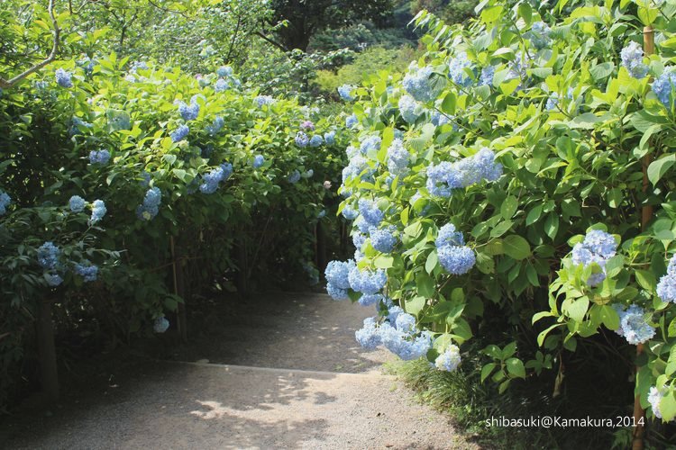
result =
[{"label": "large sunlit hydrangea bush with blue blooms right of the path", "polygon": [[423,12],[425,58],[345,88],[359,138],[341,211],[357,252],[327,267],[328,292],[375,304],[357,340],[403,359],[453,371],[465,342],[492,341],[481,380],[499,392],[556,369],[557,395],[571,352],[610,347],[668,421],[676,10],[566,4],[561,17],[485,1],[466,28]]}]

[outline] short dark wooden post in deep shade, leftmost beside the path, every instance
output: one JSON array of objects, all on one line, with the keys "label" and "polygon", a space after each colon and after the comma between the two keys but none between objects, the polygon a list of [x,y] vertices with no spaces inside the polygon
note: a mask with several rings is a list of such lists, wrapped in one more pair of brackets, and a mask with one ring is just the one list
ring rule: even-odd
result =
[{"label": "short dark wooden post in deep shade, leftmost beside the path", "polygon": [[47,401],[54,402],[59,400],[59,370],[54,344],[54,324],[51,321],[51,303],[50,299],[42,299],[38,303],[35,335],[38,341],[42,391]]}]

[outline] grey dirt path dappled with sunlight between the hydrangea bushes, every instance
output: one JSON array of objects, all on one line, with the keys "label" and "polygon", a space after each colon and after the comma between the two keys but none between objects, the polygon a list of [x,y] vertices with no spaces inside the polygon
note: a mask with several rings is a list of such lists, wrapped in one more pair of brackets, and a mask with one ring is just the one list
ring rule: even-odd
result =
[{"label": "grey dirt path dappled with sunlight between the hydrangea bushes", "polygon": [[[262,298],[175,357],[8,448],[475,448],[379,372],[354,330],[373,311],[321,294]],[[249,318],[248,320],[244,320]],[[227,322],[230,322],[229,324]],[[211,345],[205,345],[211,336]],[[198,356],[198,357],[195,357]],[[208,359],[211,364],[196,363]],[[218,363],[218,364],[214,364]],[[224,364],[223,364],[224,363]]]}]

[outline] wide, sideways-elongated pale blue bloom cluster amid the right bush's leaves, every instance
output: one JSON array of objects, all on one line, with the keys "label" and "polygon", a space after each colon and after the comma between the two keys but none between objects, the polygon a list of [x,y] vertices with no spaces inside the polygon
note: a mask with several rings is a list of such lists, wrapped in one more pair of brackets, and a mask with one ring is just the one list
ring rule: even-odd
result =
[{"label": "wide, sideways-elongated pale blue bloom cluster amid the right bush's leaves", "polygon": [[449,197],[452,189],[468,187],[481,180],[496,181],[502,175],[502,165],[495,161],[489,148],[481,148],[474,156],[450,163],[443,161],[427,167],[427,191],[435,196]]}]

